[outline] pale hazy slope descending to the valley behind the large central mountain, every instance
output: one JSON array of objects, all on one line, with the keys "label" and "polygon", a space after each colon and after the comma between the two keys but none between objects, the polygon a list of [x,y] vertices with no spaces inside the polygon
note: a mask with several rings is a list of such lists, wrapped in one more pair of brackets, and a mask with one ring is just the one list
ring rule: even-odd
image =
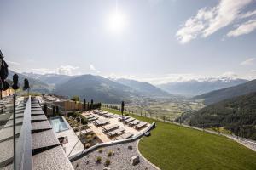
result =
[{"label": "pale hazy slope descending to the valley behind the large central mountain", "polygon": [[166,91],[161,90],[160,88],[156,88],[154,85],[148,82],[139,82],[136,80],[130,80],[125,78],[120,78],[115,80],[115,82],[119,82],[137,90],[140,94],[147,97],[171,97],[171,94],[168,94]]}]

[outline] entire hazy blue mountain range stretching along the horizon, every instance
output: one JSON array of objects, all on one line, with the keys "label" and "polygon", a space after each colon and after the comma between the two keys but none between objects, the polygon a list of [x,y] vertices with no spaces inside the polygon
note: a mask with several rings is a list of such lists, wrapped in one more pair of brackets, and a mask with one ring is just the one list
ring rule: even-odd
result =
[{"label": "entire hazy blue mountain range stretching along the horizon", "polygon": [[[14,72],[10,71],[10,73],[9,77],[12,77]],[[94,75],[67,76],[34,73],[19,75],[23,79],[27,77],[30,80],[32,91],[54,93],[68,97],[79,95],[81,98],[95,99],[106,103],[143,97],[172,98],[175,96],[173,94],[201,94],[192,99],[203,99],[206,105],[210,105],[223,99],[256,91],[256,80],[247,82],[244,79],[229,77],[204,81],[171,82],[156,87],[148,82],[124,78],[110,79]],[[203,94],[204,92],[207,93]]]}]

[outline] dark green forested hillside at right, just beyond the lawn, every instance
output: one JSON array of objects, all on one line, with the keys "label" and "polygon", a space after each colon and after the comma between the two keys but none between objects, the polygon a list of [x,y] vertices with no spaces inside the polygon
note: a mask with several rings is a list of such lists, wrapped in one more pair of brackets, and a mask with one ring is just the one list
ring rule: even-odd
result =
[{"label": "dark green forested hillside at right, just beyond the lawn", "polygon": [[236,135],[256,140],[256,93],[208,105],[192,113],[190,123],[195,127],[225,127]]}]

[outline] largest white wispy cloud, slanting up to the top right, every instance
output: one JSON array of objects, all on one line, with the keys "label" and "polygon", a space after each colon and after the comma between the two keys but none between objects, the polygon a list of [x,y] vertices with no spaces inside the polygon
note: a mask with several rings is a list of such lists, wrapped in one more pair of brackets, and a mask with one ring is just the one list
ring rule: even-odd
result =
[{"label": "largest white wispy cloud, slanting up to the top right", "polygon": [[[239,17],[241,10],[253,0],[221,0],[212,8],[201,8],[194,17],[189,18],[177,31],[177,40],[184,44],[197,37],[208,37]],[[252,14],[247,14],[250,16]],[[243,16],[245,17],[245,16]]]}]

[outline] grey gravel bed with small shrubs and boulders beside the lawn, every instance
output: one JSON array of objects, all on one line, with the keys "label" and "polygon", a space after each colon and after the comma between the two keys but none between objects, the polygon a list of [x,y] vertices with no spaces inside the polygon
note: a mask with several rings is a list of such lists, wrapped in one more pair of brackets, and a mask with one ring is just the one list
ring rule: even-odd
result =
[{"label": "grey gravel bed with small shrubs and boulders beside the lawn", "polygon": [[[128,146],[131,146],[132,149],[128,149]],[[109,150],[113,150],[113,156],[108,156]],[[97,156],[102,157],[101,163],[96,163]],[[140,162],[136,166],[132,166],[131,164],[130,159],[132,156],[140,157]],[[99,150],[95,150],[90,152],[89,155],[73,161],[72,164],[75,170],[102,170],[105,167],[104,163],[107,159],[110,160],[108,168],[111,170],[156,170],[155,167],[137,153],[137,141],[104,147],[102,148],[102,153]]]}]

